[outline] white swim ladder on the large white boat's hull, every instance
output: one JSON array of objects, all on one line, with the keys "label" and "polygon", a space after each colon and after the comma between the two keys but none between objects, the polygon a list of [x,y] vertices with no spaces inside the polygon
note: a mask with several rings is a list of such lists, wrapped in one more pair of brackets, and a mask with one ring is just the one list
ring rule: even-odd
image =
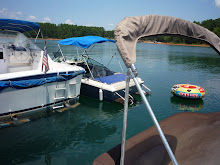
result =
[{"label": "white swim ladder on the large white boat's hull", "polygon": [[[60,87],[61,83],[62,82],[60,82],[60,83],[57,82],[57,84],[56,84],[53,109],[58,109],[58,108],[64,107],[64,100],[66,98],[67,85],[66,85],[66,81],[65,81],[64,85],[62,87]],[[62,103],[62,105],[56,106],[57,102],[63,102],[63,103]]]}]

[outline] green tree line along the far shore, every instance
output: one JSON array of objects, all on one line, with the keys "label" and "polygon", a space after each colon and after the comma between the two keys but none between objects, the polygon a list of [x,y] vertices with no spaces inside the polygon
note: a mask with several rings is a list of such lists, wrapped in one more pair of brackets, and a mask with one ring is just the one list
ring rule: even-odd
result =
[{"label": "green tree line along the far shore", "polygon": [[[203,26],[210,31],[214,32],[220,37],[220,18],[209,19],[202,22],[194,23]],[[78,26],[69,24],[53,24],[53,23],[38,23],[43,32],[44,38],[56,38],[65,39],[70,37],[81,37],[87,35],[101,36],[105,38],[114,39],[114,31],[107,31],[103,27],[93,26]],[[158,42],[172,42],[172,43],[185,43],[185,44],[202,44],[201,41],[196,41],[188,38],[172,37],[172,36],[157,36],[157,37],[146,37],[141,40],[151,40]]]}]

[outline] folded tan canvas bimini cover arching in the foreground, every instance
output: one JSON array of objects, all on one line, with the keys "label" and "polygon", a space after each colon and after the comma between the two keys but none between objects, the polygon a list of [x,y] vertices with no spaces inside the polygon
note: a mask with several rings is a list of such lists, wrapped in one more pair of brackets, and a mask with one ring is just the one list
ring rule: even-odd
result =
[{"label": "folded tan canvas bimini cover arching in the foreground", "polygon": [[207,42],[220,55],[220,38],[213,32],[192,22],[162,15],[144,15],[124,18],[115,28],[115,40],[127,67],[136,61],[136,43],[139,38],[173,35]]}]

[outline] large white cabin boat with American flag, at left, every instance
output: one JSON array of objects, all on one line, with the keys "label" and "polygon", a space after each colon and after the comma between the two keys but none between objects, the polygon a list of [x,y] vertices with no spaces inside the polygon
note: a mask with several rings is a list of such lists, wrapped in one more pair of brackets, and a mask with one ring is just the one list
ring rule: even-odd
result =
[{"label": "large white cabin boat with American flag, at left", "polygon": [[0,19],[0,29],[1,116],[46,106],[60,108],[79,96],[84,69],[54,62],[46,46],[43,51],[24,35],[29,31],[38,35],[38,24]]}]

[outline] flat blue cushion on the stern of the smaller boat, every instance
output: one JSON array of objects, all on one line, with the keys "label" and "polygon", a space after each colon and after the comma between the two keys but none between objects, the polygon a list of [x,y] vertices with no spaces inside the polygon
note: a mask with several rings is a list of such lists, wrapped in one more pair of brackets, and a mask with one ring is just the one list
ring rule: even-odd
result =
[{"label": "flat blue cushion on the stern of the smaller boat", "polygon": [[114,74],[105,77],[98,77],[95,78],[95,80],[101,81],[102,83],[106,83],[106,84],[113,84],[116,82],[125,81],[125,78],[126,78],[125,74]]}]

